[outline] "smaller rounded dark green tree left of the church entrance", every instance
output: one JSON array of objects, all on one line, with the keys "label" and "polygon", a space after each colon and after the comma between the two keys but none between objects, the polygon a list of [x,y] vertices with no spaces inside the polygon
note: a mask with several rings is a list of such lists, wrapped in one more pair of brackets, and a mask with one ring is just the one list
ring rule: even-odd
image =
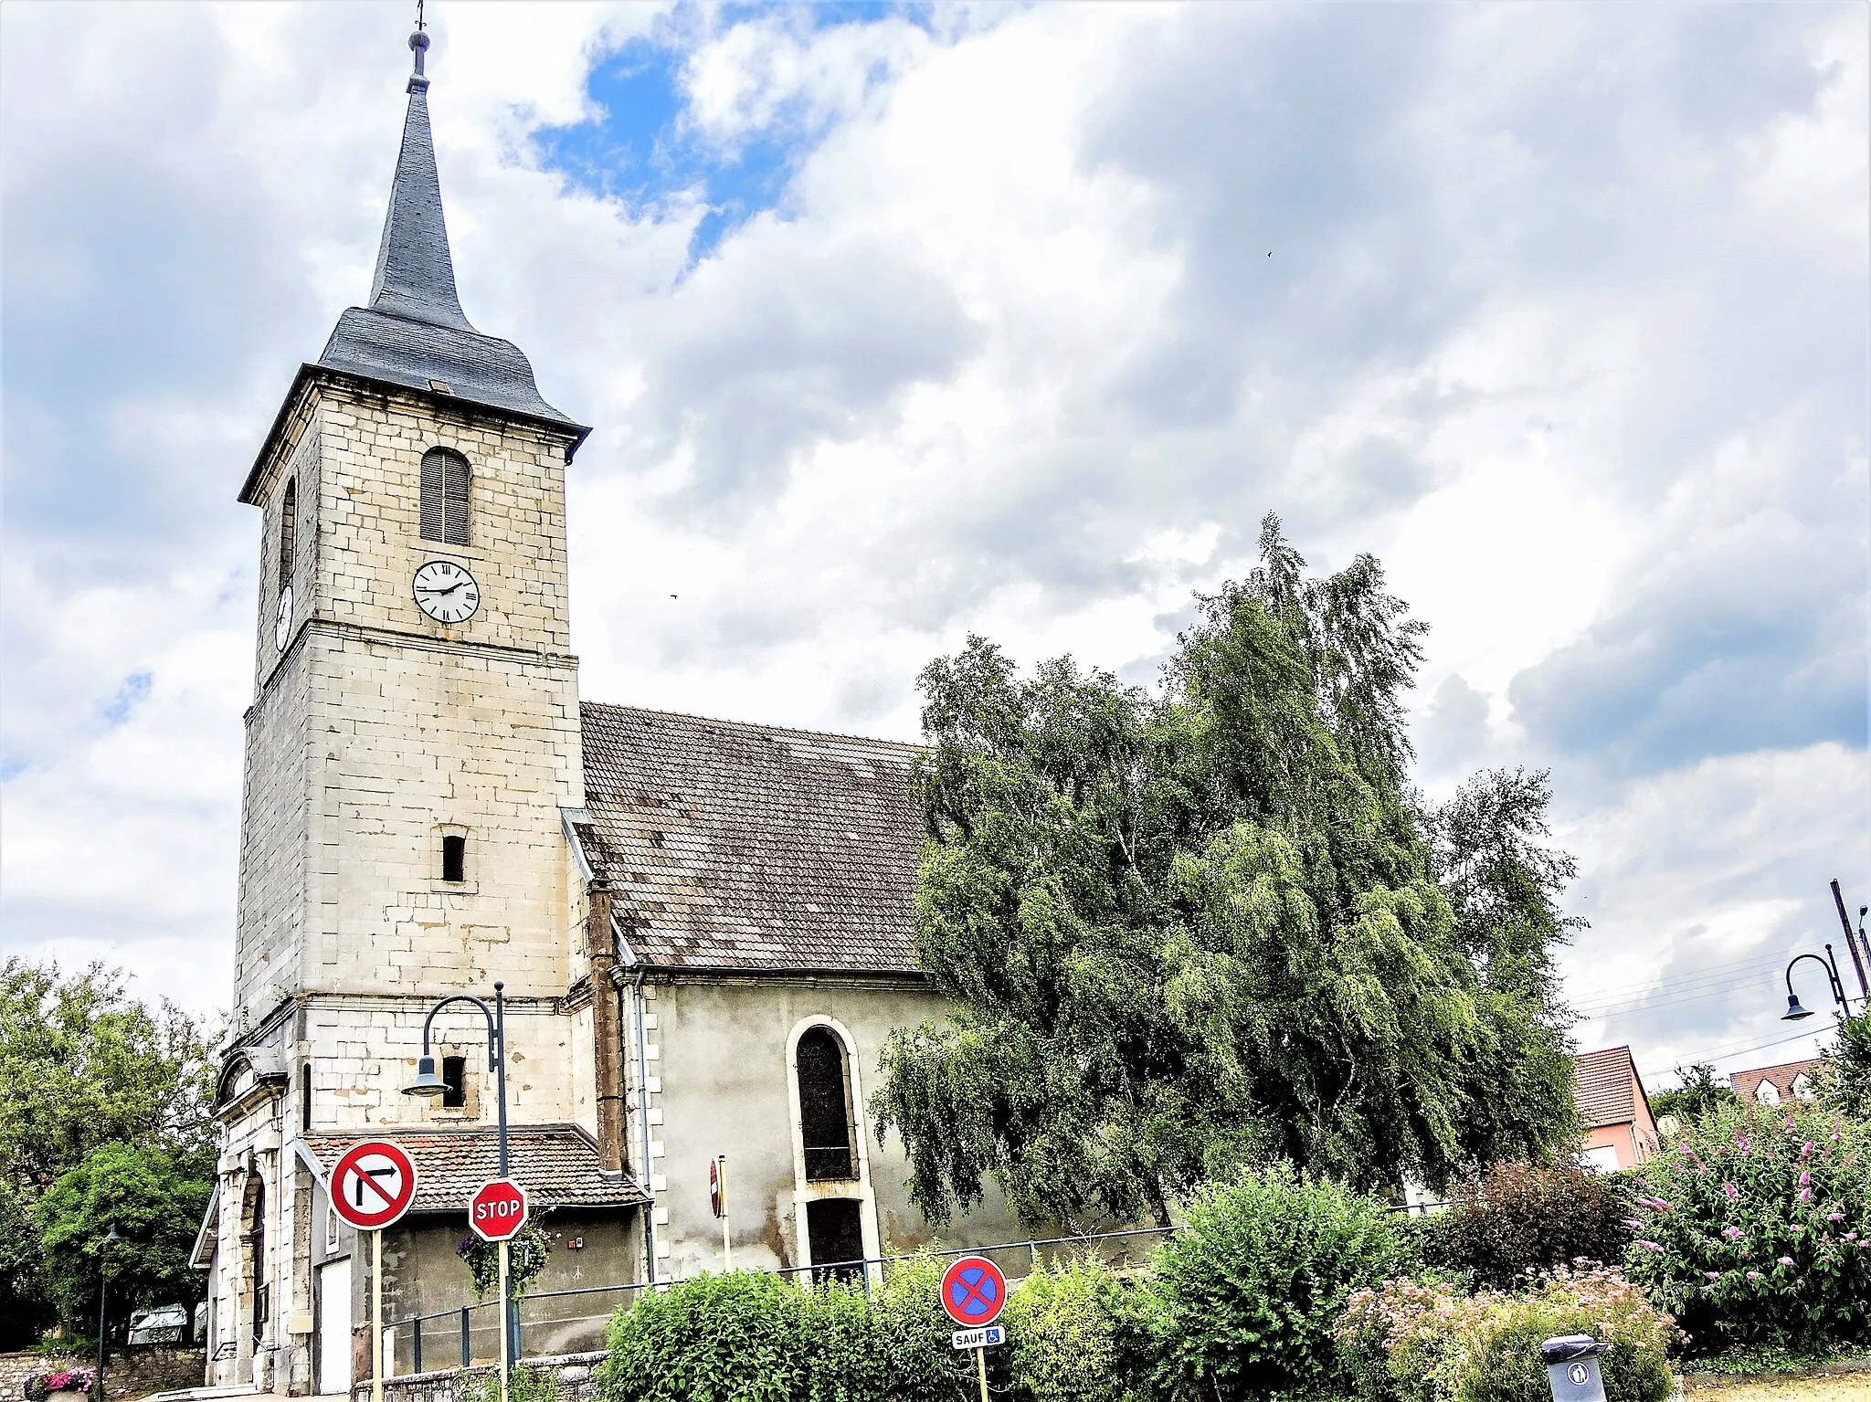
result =
[{"label": "smaller rounded dark green tree left of the church entrance", "polygon": [[211,1155],[105,1144],[52,1180],[32,1215],[47,1294],[67,1322],[84,1327],[95,1318],[99,1271],[109,1279],[112,1331],[131,1309],[202,1297],[206,1277],[189,1266],[189,1251],[211,1174]]}]

